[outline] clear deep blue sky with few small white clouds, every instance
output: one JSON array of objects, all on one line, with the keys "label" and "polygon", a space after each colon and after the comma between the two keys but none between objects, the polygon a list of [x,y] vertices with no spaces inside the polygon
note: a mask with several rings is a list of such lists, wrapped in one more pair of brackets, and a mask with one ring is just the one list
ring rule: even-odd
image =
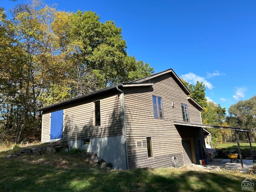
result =
[{"label": "clear deep blue sky with few small white clouds", "polygon": [[[8,10],[17,3],[0,0]],[[57,10],[93,11],[122,28],[127,52],[184,80],[228,109],[256,95],[255,0],[44,0]]]}]

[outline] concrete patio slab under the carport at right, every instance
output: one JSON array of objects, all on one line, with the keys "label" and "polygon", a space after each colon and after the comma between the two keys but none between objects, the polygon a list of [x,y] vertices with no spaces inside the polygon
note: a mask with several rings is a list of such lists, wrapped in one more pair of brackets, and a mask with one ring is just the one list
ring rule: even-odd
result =
[{"label": "concrete patio slab under the carport at right", "polygon": [[230,162],[230,159],[213,159],[212,162],[209,162],[207,165],[198,165],[198,164],[193,164],[194,167],[199,167],[199,168],[205,168],[208,170],[215,169],[217,167],[219,168],[226,168],[226,169],[237,169],[240,170],[241,172],[247,172],[256,162],[253,162],[253,160],[248,160],[248,159],[243,159],[243,164],[244,164],[244,170],[242,170],[241,162]]}]

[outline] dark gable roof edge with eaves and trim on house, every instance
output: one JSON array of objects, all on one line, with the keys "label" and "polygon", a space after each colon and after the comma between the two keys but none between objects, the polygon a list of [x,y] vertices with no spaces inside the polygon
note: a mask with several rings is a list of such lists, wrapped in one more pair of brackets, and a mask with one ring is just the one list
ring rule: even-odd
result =
[{"label": "dark gable roof edge with eaves and trim on house", "polygon": [[39,108],[37,111],[48,110],[48,109],[52,109],[52,108],[57,107],[57,106],[58,107],[64,106],[64,105],[70,104],[72,102],[76,102],[76,101],[80,101],[80,100],[83,100],[83,99],[86,99],[86,98],[89,98],[89,97],[92,97],[92,96],[96,96],[98,94],[102,94],[102,93],[110,92],[110,91],[113,91],[113,90],[117,90],[117,88],[121,88],[121,87],[152,86],[153,83],[150,82],[151,79],[156,78],[156,77],[161,76],[161,75],[164,75],[164,74],[168,74],[168,73],[171,73],[173,75],[176,82],[184,90],[185,94],[188,96],[187,99],[190,100],[192,103],[194,103],[196,105],[196,107],[198,108],[198,110],[203,110],[204,108],[200,104],[198,104],[198,102],[196,102],[193,98],[190,97],[191,93],[188,90],[188,88],[180,80],[180,78],[177,76],[177,74],[174,72],[174,70],[172,70],[172,68],[170,68],[168,70],[158,72],[156,74],[152,74],[152,75],[149,75],[149,76],[146,76],[146,77],[143,77],[143,78],[140,78],[140,79],[128,82],[128,83],[124,82],[124,83],[116,84],[116,85],[109,86],[109,87],[106,87],[106,88],[103,88],[103,89],[100,89],[100,90],[96,90],[94,92],[90,92],[88,94],[84,94],[82,96],[77,96],[77,97],[62,101],[62,102],[58,102],[56,104],[51,104],[49,106]]}]

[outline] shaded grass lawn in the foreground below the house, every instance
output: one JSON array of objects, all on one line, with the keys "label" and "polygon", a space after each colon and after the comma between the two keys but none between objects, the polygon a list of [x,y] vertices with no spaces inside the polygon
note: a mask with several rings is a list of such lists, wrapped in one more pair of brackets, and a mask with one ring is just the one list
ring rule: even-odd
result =
[{"label": "shaded grass lawn in the foreground below the house", "polygon": [[87,163],[81,153],[5,158],[13,152],[0,152],[1,192],[235,192],[247,177],[256,183],[255,175],[193,167],[106,171]]}]

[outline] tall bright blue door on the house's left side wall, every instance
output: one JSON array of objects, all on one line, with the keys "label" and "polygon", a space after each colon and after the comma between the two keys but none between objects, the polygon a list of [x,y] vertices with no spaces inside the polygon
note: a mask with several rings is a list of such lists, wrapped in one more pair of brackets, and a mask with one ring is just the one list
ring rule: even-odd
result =
[{"label": "tall bright blue door on the house's left side wall", "polygon": [[63,110],[52,112],[50,139],[63,138]]}]

